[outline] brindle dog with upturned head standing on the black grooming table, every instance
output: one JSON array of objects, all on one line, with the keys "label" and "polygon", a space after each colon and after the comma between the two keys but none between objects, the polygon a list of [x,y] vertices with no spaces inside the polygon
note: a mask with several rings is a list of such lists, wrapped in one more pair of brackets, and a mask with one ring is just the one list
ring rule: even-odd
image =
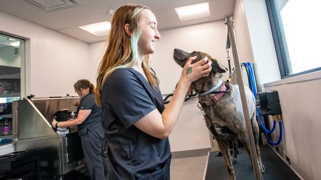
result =
[{"label": "brindle dog with upturned head standing on the black grooming table", "polygon": [[[193,63],[198,62],[205,56],[212,61],[212,71],[210,72],[209,76],[200,78],[192,83],[192,87],[199,94],[210,90],[212,87],[215,87],[222,80],[222,73],[227,72],[228,69],[220,64],[216,59],[212,58],[210,55],[204,52],[193,51],[192,53],[188,53],[180,49],[174,49],[173,58],[175,62],[181,67],[184,67],[189,57],[193,56],[197,56],[197,60],[195,60]],[[239,86],[231,84],[228,85],[226,82],[225,84],[222,83],[221,87],[222,86],[227,86],[227,89],[230,89],[230,91],[228,93],[225,93],[214,105],[203,106],[202,108],[206,113],[204,115],[206,126],[217,140],[224,157],[224,161],[228,171],[228,180],[235,180],[236,178],[233,164],[236,163],[237,159],[237,139],[239,139],[244,144],[247,150],[247,154],[249,155],[249,157],[251,156],[249,152],[249,143],[241,104]],[[220,90],[221,87],[219,87],[216,91]],[[247,96],[247,106],[249,111],[248,113],[251,117],[258,163],[260,165],[261,172],[263,173],[265,171],[265,168],[262,164],[261,153],[258,144],[259,127],[255,117],[255,98],[248,87],[245,87],[245,91]],[[207,101],[214,95],[215,94],[199,96],[199,102],[201,103]],[[232,158],[229,152],[228,140],[233,141]]]}]

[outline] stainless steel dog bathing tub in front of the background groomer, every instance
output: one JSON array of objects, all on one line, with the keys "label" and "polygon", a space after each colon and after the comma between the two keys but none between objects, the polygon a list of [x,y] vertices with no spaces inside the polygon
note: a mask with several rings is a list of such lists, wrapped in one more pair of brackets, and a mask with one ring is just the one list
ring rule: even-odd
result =
[{"label": "stainless steel dog bathing tub in front of the background groomer", "polygon": [[[79,97],[69,98],[73,103]],[[13,141],[16,151],[39,148],[40,177],[60,176],[84,163],[77,128],[58,135],[51,127],[52,114],[61,109],[76,110],[66,98],[24,99],[13,102]]]}]

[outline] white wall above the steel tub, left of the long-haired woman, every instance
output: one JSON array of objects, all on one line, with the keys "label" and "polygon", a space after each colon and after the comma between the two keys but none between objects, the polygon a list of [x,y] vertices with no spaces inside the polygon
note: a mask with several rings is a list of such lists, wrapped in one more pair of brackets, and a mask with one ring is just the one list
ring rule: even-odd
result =
[{"label": "white wall above the steel tub, left of the long-haired woman", "polygon": [[26,94],[61,96],[89,79],[88,44],[0,12],[0,31],[26,39]]}]

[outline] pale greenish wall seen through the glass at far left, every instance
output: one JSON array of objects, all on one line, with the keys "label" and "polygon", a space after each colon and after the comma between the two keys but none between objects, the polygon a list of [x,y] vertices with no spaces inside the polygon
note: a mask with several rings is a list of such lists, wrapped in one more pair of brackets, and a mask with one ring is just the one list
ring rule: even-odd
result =
[{"label": "pale greenish wall seen through the glass at far left", "polygon": [[[18,48],[18,54],[14,53],[14,49]],[[6,46],[0,48],[0,65],[10,67],[20,67],[20,47]]]}]

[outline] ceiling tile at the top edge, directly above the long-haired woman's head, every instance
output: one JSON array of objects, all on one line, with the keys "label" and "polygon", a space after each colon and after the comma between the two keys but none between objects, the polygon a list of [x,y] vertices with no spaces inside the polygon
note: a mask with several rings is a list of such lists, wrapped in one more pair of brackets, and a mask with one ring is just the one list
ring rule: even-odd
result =
[{"label": "ceiling tile at the top edge, directly above the long-haired woman's head", "polygon": [[170,9],[172,5],[169,0],[126,0],[132,4],[144,4],[148,6],[151,11],[158,11],[162,9]]}]

